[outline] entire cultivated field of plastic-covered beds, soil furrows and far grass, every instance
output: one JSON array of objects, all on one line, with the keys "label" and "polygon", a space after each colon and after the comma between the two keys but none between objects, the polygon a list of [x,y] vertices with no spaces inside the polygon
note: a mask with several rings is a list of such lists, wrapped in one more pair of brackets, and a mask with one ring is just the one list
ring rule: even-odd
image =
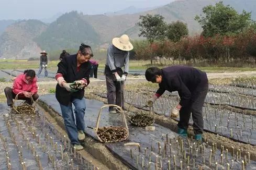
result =
[{"label": "entire cultivated field of plastic-covered beds, soil furrows and far grass", "polygon": [[[99,69],[104,68],[104,61]],[[49,62],[49,70],[57,69],[57,61]],[[160,65],[159,65],[160,66]],[[130,70],[145,70],[148,61],[130,61]],[[164,66],[161,66],[164,67]],[[38,68],[38,61],[5,60],[1,70]],[[254,68],[198,67],[208,72],[210,87],[203,107],[203,142],[194,140],[192,126],[188,138],[177,135],[178,118],[170,117],[170,110],[179,97],[176,92],[165,92],[153,106],[155,127],[147,131],[134,126],[131,117],[149,115],[144,104],[158,85],[144,81],[144,76],[129,75],[125,89],[125,117],[129,137],[116,143],[102,143],[95,136],[97,116],[107,103],[105,81],[91,80],[85,91],[86,139],[85,150],[74,152],[66,136],[61,111],[55,99],[53,78],[40,78],[40,99],[37,115],[14,114],[0,120],[1,169],[254,169],[256,167],[256,79]],[[246,71],[246,72],[243,72]],[[12,73],[11,73],[12,74]],[[14,74],[14,73],[13,73]],[[15,73],[17,74],[17,73]],[[249,78],[234,78],[247,75]],[[0,112],[8,113],[3,93],[10,82],[0,83]],[[102,110],[99,126],[119,126],[121,116]],[[190,120],[191,125],[193,120]],[[11,128],[12,127],[12,128]],[[65,138],[64,138],[65,135]],[[138,146],[125,146],[136,142]],[[91,155],[91,157],[90,157]],[[92,161],[92,162],[91,162]],[[25,163],[24,163],[25,162]]]}]

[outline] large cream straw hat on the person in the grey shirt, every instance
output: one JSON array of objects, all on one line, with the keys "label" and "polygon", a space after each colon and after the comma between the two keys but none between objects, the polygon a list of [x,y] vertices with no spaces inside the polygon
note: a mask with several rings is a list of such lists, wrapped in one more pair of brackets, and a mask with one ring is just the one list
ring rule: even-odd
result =
[{"label": "large cream straw hat on the person in the grey shirt", "polygon": [[130,43],[130,39],[126,34],[122,35],[120,38],[114,38],[112,44],[123,51],[131,51],[133,49],[133,45]]}]

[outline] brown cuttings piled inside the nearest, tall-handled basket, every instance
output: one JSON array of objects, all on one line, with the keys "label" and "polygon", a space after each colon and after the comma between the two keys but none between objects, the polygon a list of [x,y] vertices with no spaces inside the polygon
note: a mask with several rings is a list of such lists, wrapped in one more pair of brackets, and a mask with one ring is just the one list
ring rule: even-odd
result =
[{"label": "brown cuttings piled inside the nearest, tall-handled basket", "polygon": [[100,127],[97,131],[97,136],[103,142],[120,142],[126,140],[128,131],[121,126]]}]

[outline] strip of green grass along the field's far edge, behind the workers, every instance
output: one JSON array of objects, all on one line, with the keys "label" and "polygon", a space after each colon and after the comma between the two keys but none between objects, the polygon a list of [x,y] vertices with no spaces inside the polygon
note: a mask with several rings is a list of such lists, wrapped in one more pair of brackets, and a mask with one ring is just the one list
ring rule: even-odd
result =
[{"label": "strip of green grass along the field's far edge, behind the workers", "polygon": [[[59,60],[49,61],[48,69],[57,69],[57,64]],[[101,60],[99,62],[99,69],[104,69],[106,60]],[[159,67],[163,68],[169,65],[150,65],[149,60],[130,60],[129,69],[130,70],[146,70],[149,67]],[[28,69],[28,68],[38,68],[39,61],[27,61],[27,60],[14,60],[14,59],[0,59],[0,69]],[[256,71],[255,67],[196,67],[207,72],[234,72],[234,71]]]}]

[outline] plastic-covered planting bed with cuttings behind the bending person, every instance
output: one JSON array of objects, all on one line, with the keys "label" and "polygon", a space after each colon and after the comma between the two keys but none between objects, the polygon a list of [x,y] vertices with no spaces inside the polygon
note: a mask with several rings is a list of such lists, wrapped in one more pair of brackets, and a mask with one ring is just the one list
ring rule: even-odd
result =
[{"label": "plastic-covered planting bed with cuttings behind the bending person", "polygon": [[[179,102],[179,97],[175,96],[177,92],[165,92],[157,101],[154,103],[154,112],[159,115],[165,115],[170,117],[170,110]],[[153,94],[151,90],[137,93],[135,91],[125,91],[125,101],[141,108],[146,104]],[[104,92],[97,93],[97,95],[106,98]],[[233,97],[231,98],[231,95]],[[250,106],[251,102],[246,102],[247,96],[236,95],[232,93],[217,93],[209,92],[207,94],[206,102],[212,103],[214,105],[205,104],[203,107],[203,117],[204,117],[204,129],[209,132],[218,133],[219,135],[231,138],[235,141],[240,141],[243,143],[249,143],[256,145],[256,117],[253,115],[245,115],[242,113],[235,112],[233,110],[226,110],[219,107],[219,105],[225,105],[221,102],[225,102],[226,98],[230,99],[226,102],[226,105],[237,105],[236,107],[244,108]],[[249,99],[253,101],[253,97],[250,96]],[[248,100],[249,100],[248,99]],[[233,102],[231,102],[233,101]],[[253,105],[253,104],[252,104]],[[143,110],[148,110],[149,108],[143,107]],[[251,109],[251,108],[250,108]],[[176,119],[179,121],[179,118]],[[192,117],[190,119],[190,124],[193,124]]]}]

